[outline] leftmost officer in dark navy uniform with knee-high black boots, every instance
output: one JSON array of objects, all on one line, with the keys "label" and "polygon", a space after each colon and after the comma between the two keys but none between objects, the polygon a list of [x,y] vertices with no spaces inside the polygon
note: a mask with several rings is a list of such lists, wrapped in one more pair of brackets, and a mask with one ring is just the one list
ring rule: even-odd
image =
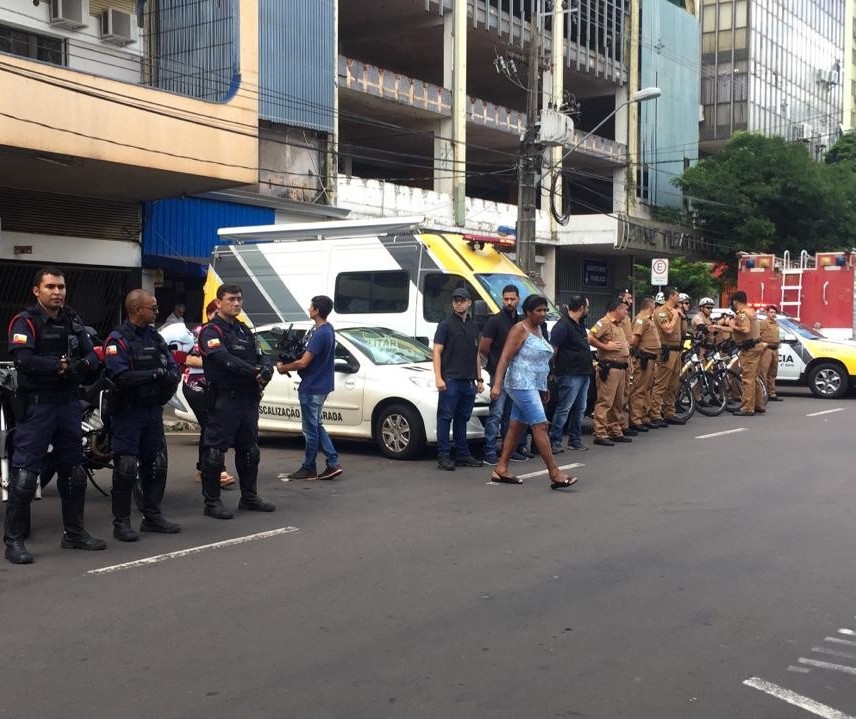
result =
[{"label": "leftmost officer in dark navy uniform with knee-high black boots", "polygon": [[83,320],[65,306],[65,276],[45,267],[33,280],[36,304],[9,325],[9,351],[18,370],[16,418],[9,501],[3,540],[6,559],[31,564],[24,546],[30,504],[52,444],[57,490],[62,499],[63,549],[106,549],[83,527],[86,474],[83,461],[80,385],[98,369],[98,357]]}]

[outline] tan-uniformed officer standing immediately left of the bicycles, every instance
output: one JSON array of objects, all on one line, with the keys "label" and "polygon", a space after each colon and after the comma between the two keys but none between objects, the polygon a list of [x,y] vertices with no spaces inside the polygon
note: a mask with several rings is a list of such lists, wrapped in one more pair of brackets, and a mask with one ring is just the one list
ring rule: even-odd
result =
[{"label": "tan-uniformed officer standing immediately left of the bicycles", "polygon": [[675,397],[681,378],[681,332],[684,311],[675,288],[663,292],[666,303],[654,312],[660,332],[660,359],[654,367],[654,387],[651,393],[651,423],[658,427],[686,424],[675,416]]}]

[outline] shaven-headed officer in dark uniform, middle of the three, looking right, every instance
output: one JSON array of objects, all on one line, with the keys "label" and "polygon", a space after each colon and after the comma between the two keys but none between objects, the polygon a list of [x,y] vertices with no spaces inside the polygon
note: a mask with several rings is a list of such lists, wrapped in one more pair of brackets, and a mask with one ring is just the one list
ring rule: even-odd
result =
[{"label": "shaven-headed officer in dark uniform, middle of the three, looking right", "polygon": [[177,534],[181,527],[161,514],[166,488],[163,405],[181,381],[178,365],[154,328],[158,306],[145,290],[125,298],[128,319],[104,343],[107,376],[116,390],[111,401],[113,536],[136,542],[131,528],[131,494],[139,474],[143,493],[142,532]]}]

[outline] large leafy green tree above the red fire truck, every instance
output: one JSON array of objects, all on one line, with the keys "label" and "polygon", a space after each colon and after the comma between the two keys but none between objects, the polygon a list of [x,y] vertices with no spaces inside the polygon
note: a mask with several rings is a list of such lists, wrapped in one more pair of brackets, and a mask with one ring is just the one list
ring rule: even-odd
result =
[{"label": "large leafy green tree above the red fire truck", "polygon": [[856,246],[856,141],[845,135],[832,160],[780,137],[738,133],[716,155],[676,178],[715,259],[735,253],[816,251]]}]

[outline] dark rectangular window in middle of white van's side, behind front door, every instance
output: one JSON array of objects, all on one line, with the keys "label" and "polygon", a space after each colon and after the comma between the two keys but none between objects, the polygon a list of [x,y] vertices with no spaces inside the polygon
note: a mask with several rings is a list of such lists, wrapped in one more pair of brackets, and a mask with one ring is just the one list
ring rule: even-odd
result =
[{"label": "dark rectangular window in middle of white van's side, behind front door", "polygon": [[333,308],[340,315],[406,312],[410,275],[390,272],[340,272],[336,276]]}]

